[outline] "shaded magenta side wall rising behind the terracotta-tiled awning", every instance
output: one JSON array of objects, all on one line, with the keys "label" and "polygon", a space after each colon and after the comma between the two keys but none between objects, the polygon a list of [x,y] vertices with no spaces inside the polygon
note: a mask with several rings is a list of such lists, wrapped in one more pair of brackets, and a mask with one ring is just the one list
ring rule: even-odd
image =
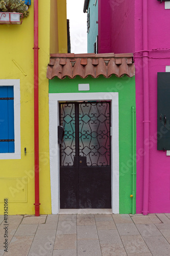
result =
[{"label": "shaded magenta side wall rising behind the terracotta-tiled awning", "polygon": [[99,0],[99,53],[134,52],[134,0],[108,2]]}]

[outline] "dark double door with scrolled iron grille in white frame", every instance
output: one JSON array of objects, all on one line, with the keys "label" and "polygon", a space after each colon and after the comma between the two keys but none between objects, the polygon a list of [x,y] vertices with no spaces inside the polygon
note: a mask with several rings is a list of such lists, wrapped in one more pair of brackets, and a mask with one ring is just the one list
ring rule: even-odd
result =
[{"label": "dark double door with scrolled iron grille in white frame", "polygon": [[110,101],[60,103],[60,208],[111,208]]}]

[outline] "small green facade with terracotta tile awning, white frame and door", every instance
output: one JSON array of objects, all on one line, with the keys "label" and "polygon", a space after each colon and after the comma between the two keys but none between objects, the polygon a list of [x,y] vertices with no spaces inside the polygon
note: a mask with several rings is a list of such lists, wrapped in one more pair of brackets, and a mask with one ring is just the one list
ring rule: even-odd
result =
[{"label": "small green facade with terracotta tile awning, white frame and door", "polygon": [[[53,214],[60,208],[135,211],[132,56],[51,54],[47,78]],[[56,143],[58,126],[65,129],[62,144]]]}]

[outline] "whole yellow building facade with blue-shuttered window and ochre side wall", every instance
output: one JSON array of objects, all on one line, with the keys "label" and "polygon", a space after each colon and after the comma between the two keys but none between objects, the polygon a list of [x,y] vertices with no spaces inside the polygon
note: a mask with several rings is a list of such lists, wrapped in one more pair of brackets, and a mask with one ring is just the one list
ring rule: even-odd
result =
[{"label": "whole yellow building facade with blue-shuttered window and ochre side wall", "polygon": [[[9,215],[35,213],[34,2],[21,25],[0,25],[0,214],[6,198]],[[41,0],[38,9],[39,201],[40,214],[51,214],[46,66],[50,53],[67,52],[66,1]]]}]

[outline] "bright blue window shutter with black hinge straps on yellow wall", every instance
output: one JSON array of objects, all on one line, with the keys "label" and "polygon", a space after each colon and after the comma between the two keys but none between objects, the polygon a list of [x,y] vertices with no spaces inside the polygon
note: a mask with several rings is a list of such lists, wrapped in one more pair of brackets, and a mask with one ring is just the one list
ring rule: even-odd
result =
[{"label": "bright blue window shutter with black hinge straps on yellow wall", "polygon": [[14,88],[0,87],[0,153],[14,153]]}]

